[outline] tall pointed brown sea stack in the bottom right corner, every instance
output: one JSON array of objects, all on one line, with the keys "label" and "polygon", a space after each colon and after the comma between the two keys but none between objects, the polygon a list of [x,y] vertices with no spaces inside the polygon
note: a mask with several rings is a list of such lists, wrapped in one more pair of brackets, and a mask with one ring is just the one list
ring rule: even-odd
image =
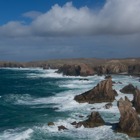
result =
[{"label": "tall pointed brown sea stack in the bottom right corner", "polygon": [[118,101],[118,108],[121,117],[117,130],[132,137],[140,137],[140,118],[129,99],[127,97],[125,97],[125,100],[121,98]]}]

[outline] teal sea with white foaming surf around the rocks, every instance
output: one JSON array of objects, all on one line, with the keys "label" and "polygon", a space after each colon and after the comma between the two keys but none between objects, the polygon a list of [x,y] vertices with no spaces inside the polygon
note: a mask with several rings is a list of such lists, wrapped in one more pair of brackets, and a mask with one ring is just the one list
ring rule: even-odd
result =
[{"label": "teal sea with white foaming surf around the rocks", "polygon": [[[0,140],[140,140],[116,133],[111,124],[119,122],[117,100],[132,94],[120,89],[129,83],[140,88],[139,77],[112,75],[118,92],[110,109],[106,103],[77,103],[75,95],[92,89],[105,76],[63,76],[57,70],[41,68],[0,69]],[[85,80],[88,79],[88,80]],[[121,83],[120,83],[121,82]],[[96,128],[75,128],[72,122],[83,121],[98,111],[106,124]],[[48,126],[49,122],[55,125]],[[58,126],[68,130],[58,131]]]}]

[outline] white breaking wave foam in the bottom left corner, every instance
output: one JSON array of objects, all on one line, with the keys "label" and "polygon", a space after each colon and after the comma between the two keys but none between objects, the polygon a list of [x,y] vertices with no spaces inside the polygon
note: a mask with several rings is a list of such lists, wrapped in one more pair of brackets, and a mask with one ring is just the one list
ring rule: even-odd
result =
[{"label": "white breaking wave foam in the bottom left corner", "polygon": [[19,132],[19,130],[6,130],[0,134],[0,140],[26,140],[33,133],[32,129]]}]

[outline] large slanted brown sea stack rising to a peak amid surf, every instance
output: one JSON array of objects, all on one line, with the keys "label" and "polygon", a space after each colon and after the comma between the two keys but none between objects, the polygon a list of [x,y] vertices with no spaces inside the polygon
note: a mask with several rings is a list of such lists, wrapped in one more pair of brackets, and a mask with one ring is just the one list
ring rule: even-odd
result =
[{"label": "large slanted brown sea stack rising to a peak amid surf", "polygon": [[88,102],[100,103],[100,102],[112,102],[115,99],[116,91],[112,89],[112,79],[101,81],[92,90],[89,90],[83,94],[75,96],[74,100],[79,103]]}]

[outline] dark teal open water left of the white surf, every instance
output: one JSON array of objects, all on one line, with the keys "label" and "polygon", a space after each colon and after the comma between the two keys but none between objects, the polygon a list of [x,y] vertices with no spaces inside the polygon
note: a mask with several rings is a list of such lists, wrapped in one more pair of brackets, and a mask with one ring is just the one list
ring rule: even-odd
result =
[{"label": "dark teal open water left of the white surf", "polygon": [[[18,100],[51,97],[66,91],[57,82],[58,78],[27,78],[30,74],[40,74],[38,70],[0,69],[0,131],[19,127],[43,125],[60,117],[66,117],[53,107],[21,105]],[[63,79],[64,80],[64,79]],[[67,79],[66,79],[67,80]]]}]

